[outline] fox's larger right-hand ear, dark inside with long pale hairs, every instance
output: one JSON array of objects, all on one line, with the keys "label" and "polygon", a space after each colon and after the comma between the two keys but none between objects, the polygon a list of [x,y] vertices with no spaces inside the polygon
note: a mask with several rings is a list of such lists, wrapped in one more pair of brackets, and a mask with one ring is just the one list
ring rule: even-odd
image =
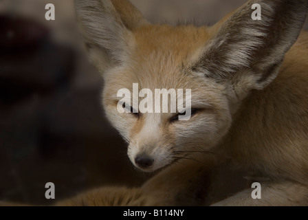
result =
[{"label": "fox's larger right-hand ear, dark inside with long pale hairs", "polygon": [[[261,5],[253,20],[252,5]],[[253,0],[212,28],[212,40],[192,69],[244,89],[263,89],[281,67],[305,23],[307,0]],[[219,28],[218,28],[219,26]]]}]

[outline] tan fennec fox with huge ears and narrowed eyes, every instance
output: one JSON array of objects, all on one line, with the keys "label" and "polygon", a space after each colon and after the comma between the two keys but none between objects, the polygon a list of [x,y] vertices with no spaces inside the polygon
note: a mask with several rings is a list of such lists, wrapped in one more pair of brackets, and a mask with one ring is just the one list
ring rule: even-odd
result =
[{"label": "tan fennec fox with huge ears and narrowed eyes", "polygon": [[[252,19],[254,3],[261,20]],[[164,168],[142,186],[145,197],[161,205],[308,205],[307,8],[307,0],[248,1],[206,27],[149,23],[126,0],[76,0],[107,117],[134,166]],[[121,113],[118,91],[134,83],[191,89],[190,119],[128,103]],[[210,201],[221,164],[259,177],[261,199],[246,189]]]}]

